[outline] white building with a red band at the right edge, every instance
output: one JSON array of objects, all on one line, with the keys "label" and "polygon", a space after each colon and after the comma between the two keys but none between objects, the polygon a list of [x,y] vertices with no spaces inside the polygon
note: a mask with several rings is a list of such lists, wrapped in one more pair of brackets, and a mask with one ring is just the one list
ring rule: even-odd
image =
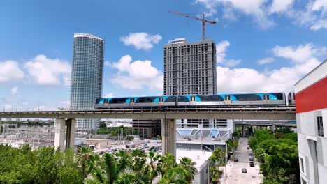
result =
[{"label": "white building with a red band at the right edge", "polygon": [[295,84],[301,183],[327,181],[327,60]]}]

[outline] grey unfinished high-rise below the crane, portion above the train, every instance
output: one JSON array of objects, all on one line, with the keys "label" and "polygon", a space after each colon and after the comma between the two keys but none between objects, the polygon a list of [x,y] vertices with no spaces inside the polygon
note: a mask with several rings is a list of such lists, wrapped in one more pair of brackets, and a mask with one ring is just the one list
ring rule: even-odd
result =
[{"label": "grey unfinished high-rise below the crane, portion above the train", "polygon": [[170,41],[163,51],[164,95],[217,93],[216,45],[213,40]]}]

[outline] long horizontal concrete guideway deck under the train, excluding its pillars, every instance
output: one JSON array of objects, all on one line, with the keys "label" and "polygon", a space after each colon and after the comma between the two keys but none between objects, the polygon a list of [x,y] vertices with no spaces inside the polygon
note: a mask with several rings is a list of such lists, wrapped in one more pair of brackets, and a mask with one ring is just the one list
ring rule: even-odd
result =
[{"label": "long horizontal concrete guideway deck under the train, excluding its pillars", "polygon": [[78,111],[7,111],[0,118],[133,118],[295,120],[295,107],[165,107]]}]

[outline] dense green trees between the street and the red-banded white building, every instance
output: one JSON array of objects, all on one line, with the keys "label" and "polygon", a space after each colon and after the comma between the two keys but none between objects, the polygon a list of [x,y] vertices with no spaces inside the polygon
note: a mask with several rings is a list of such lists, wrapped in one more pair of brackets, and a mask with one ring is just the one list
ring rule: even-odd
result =
[{"label": "dense green trees between the street and the red-banded white building", "polygon": [[259,130],[249,137],[249,145],[254,150],[260,169],[265,176],[263,183],[296,183],[300,178],[298,167],[297,135],[289,128],[279,128],[275,135],[267,130]]}]

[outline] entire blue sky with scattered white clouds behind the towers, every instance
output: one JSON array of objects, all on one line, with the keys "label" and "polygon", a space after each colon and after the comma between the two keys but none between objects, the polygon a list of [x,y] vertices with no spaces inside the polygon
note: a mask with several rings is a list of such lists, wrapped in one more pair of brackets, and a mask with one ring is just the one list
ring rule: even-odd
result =
[{"label": "entire blue sky with scattered white clouds behind the towers", "polygon": [[219,93],[292,91],[326,59],[326,0],[1,1],[0,105],[66,106],[73,33],[106,40],[103,96],[163,93],[163,45],[202,36],[168,10],[217,21]]}]

